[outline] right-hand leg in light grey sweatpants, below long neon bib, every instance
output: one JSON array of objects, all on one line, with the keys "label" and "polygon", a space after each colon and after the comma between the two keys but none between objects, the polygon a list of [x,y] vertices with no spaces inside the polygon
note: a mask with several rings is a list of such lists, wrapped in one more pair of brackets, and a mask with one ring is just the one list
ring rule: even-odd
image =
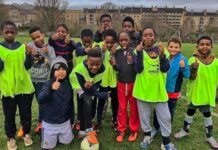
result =
[{"label": "right-hand leg in light grey sweatpants, below long neon bib", "polygon": [[171,116],[166,103],[157,103],[155,106],[157,120],[160,124],[163,145],[168,145],[170,143],[171,134]]}]

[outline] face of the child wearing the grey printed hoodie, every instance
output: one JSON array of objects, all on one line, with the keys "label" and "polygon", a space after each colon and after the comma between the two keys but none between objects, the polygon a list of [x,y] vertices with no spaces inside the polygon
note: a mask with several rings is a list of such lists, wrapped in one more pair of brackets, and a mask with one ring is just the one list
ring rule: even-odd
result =
[{"label": "face of the child wearing the grey printed hoodie", "polygon": [[36,46],[42,47],[44,44],[44,33],[40,31],[35,31],[30,34],[30,37],[32,38],[33,42]]}]

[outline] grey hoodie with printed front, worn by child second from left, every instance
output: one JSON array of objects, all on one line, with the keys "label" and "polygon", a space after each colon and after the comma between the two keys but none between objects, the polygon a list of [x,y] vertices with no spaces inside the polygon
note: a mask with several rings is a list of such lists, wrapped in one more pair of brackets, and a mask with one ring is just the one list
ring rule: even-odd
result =
[{"label": "grey hoodie with printed front, worn by child second from left", "polygon": [[50,45],[46,45],[48,53],[45,53],[41,48],[37,47],[34,42],[30,42],[27,45],[37,51],[37,55],[32,58],[33,63],[30,69],[32,82],[46,82],[49,79],[51,62],[56,57],[54,48]]}]

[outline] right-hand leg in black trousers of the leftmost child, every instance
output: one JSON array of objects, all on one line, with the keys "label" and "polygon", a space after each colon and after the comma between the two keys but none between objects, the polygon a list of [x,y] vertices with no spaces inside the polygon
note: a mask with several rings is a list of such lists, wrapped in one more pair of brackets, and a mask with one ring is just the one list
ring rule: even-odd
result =
[{"label": "right-hand leg in black trousers of the leftmost child", "polygon": [[20,94],[15,96],[20,113],[20,120],[23,126],[24,135],[30,133],[32,124],[32,100],[33,94]]}]

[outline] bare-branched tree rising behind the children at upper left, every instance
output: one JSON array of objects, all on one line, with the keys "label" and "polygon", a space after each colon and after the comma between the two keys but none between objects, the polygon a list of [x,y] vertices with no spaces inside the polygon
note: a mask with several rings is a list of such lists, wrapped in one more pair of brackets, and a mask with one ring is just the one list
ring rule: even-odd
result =
[{"label": "bare-branched tree rising behind the children at upper left", "polygon": [[64,23],[65,0],[35,0],[37,24],[46,31],[54,31],[59,23]]}]

